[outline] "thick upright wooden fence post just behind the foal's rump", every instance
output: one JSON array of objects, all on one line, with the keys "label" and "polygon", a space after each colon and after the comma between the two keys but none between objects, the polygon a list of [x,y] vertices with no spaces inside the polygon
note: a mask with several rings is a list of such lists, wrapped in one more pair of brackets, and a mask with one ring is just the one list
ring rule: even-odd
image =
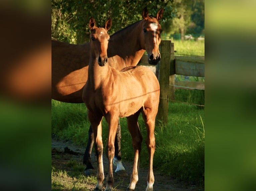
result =
[{"label": "thick upright wooden fence post just behind the foal's rump", "polygon": [[168,94],[171,59],[171,41],[162,40],[160,43],[160,68],[158,81],[160,84],[160,100],[158,105],[157,119],[163,123],[168,122]]}]

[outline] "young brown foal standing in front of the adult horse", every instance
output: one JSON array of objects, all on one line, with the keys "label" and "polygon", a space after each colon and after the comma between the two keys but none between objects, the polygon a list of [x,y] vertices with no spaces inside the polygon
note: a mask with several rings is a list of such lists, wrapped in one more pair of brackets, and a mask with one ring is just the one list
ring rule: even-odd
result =
[{"label": "young brown foal standing in front of the adult horse", "polygon": [[140,112],[147,129],[146,145],[149,154],[146,190],[153,190],[154,127],[160,95],[159,83],[155,74],[143,66],[130,66],[122,71],[118,71],[108,64],[107,48],[110,37],[107,31],[111,28],[111,25],[111,19],[105,23],[103,28],[96,27],[95,20],[92,17],[89,21],[89,28],[91,30],[90,62],[88,81],[83,90],[83,100],[88,108],[88,118],[95,133],[94,141],[98,162],[98,181],[95,190],[102,189],[104,180],[101,127],[103,116],[109,127],[106,145],[108,157],[106,191],[112,190],[114,182],[112,161],[115,151],[114,138],[117,131],[118,117],[127,117],[127,125],[132,137],[135,156],[131,181],[127,190],[135,189],[138,181],[139,156],[142,143],[142,135],[138,126]]}]

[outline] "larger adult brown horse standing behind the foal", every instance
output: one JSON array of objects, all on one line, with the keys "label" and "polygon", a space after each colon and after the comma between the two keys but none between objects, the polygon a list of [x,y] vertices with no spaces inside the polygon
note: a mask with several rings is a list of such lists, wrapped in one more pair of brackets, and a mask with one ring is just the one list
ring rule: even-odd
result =
[{"label": "larger adult brown horse standing behind the foal", "polygon": [[[135,66],[143,56],[148,54],[149,64],[157,64],[160,60],[158,46],[160,44],[161,26],[159,20],[163,16],[163,8],[159,9],[156,17],[149,16],[145,7],[142,20],[111,35],[108,45],[108,60],[111,66],[121,70],[126,66]],[[52,98],[55,100],[82,103],[83,87],[88,79],[89,43],[72,45],[52,40]],[[89,140],[86,147],[84,161],[85,173],[90,174],[91,150],[94,134],[90,126]],[[124,170],[121,163],[120,140],[121,131],[118,125],[115,141],[115,158],[117,158],[116,172]]]}]

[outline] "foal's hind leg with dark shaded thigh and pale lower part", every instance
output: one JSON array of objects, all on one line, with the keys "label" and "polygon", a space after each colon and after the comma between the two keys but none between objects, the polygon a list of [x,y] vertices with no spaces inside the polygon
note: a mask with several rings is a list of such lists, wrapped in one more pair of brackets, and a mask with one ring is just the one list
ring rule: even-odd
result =
[{"label": "foal's hind leg with dark shaded thigh and pale lower part", "polygon": [[142,135],[138,125],[139,114],[140,114],[140,111],[137,111],[135,114],[127,117],[127,126],[132,137],[132,146],[134,150],[133,169],[132,169],[130,184],[127,190],[134,190],[139,179],[138,178],[139,157],[140,157],[141,143],[142,143]]}]

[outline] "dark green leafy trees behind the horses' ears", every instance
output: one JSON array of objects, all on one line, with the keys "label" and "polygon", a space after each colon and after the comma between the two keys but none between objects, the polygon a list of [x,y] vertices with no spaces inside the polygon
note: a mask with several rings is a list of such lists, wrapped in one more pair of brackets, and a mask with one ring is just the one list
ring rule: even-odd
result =
[{"label": "dark green leafy trees behind the horses' ears", "polygon": [[59,41],[83,44],[89,41],[88,21],[91,16],[97,25],[112,18],[113,25],[109,34],[142,19],[143,8],[147,6],[149,14],[156,16],[164,8],[165,23],[173,17],[171,1],[168,0],[52,0],[52,37]]}]

